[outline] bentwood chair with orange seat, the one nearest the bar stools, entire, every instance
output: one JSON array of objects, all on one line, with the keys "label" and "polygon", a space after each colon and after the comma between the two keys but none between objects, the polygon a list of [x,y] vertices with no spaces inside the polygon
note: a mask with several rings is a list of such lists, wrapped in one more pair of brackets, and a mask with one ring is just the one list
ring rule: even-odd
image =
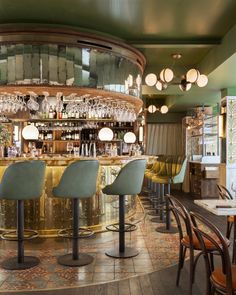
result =
[{"label": "bentwood chair with orange seat, the one nearest the bar stools, entire", "polygon": [[[168,201],[170,203],[170,209],[174,214],[174,217],[178,226],[178,231],[179,231],[179,263],[178,263],[176,285],[179,286],[180,273],[184,266],[186,250],[188,249],[190,254],[189,294],[192,294],[192,285],[194,283],[194,273],[195,273],[196,264],[198,262],[199,257],[203,254],[202,246],[197,236],[193,232],[191,217],[187,209],[176,198],[169,195],[167,195],[166,197],[168,198]],[[210,256],[211,269],[214,269],[213,254],[216,250],[216,247],[211,241],[206,240],[205,248],[207,253]],[[200,251],[200,252],[196,256],[194,256],[194,251]]]}]

